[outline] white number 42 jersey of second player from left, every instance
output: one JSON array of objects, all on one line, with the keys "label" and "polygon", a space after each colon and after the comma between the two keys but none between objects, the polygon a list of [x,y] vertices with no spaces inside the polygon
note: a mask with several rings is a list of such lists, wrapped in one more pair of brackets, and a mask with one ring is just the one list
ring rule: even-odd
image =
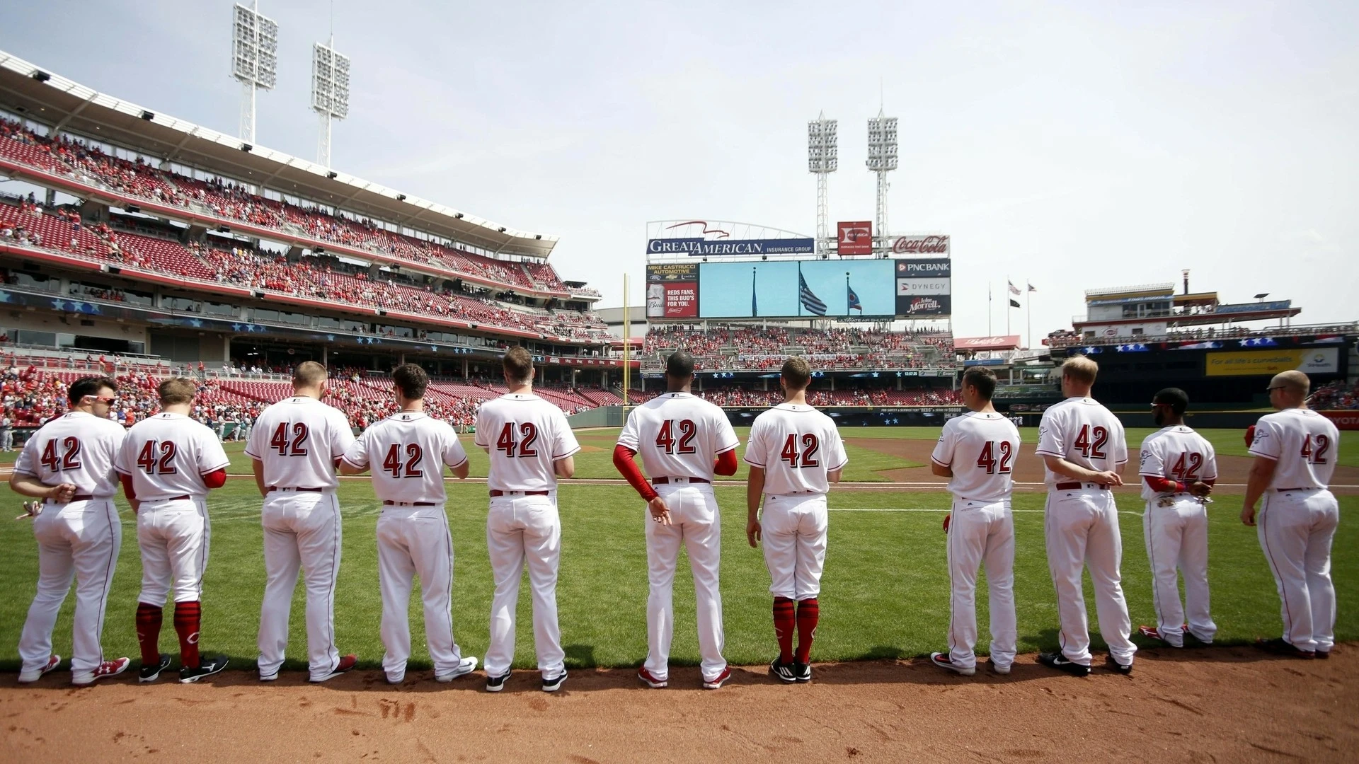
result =
[{"label": "white number 42 jersey of second player from left", "polygon": [[132,476],[140,502],[208,495],[202,476],[231,464],[217,435],[182,413],[158,413],[132,426],[114,469]]}]

